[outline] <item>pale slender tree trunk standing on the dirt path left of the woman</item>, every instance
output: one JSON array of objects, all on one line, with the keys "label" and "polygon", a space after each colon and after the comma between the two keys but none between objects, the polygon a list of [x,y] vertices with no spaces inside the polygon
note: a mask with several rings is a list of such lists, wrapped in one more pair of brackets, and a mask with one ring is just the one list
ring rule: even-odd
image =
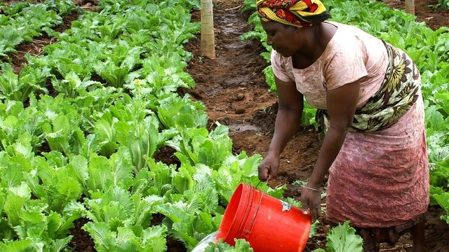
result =
[{"label": "pale slender tree trunk standing on the dirt path left of the woman", "polygon": [[215,58],[212,0],[201,0],[201,55]]}]

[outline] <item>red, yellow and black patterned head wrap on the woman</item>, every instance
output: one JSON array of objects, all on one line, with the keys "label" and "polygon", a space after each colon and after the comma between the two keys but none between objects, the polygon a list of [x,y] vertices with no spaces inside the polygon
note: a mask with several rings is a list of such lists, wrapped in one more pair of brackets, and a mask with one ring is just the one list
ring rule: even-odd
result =
[{"label": "red, yellow and black patterned head wrap on the woman", "polygon": [[311,26],[330,18],[330,14],[319,0],[257,0],[257,11],[262,20],[293,25]]}]

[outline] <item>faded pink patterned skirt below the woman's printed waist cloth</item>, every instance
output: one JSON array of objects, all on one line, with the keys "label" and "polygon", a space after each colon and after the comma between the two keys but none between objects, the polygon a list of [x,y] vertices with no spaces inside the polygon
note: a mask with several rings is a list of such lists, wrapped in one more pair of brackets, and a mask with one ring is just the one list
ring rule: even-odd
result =
[{"label": "faded pink patterned skirt below the woman's printed waist cloth", "polygon": [[419,97],[394,125],[348,132],[329,169],[328,221],[359,228],[404,225],[427,211],[429,169]]}]

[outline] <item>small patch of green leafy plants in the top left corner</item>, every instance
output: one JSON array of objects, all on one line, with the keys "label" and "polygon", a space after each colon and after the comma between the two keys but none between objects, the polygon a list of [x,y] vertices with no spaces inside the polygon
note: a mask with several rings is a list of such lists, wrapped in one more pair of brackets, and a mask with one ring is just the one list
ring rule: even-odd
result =
[{"label": "small patch of green leafy plants in the top left corner", "polygon": [[42,3],[0,3],[0,57],[8,58],[16,46],[43,32],[54,34],[51,28],[62,24],[62,18],[74,10],[72,0],[46,0]]}]

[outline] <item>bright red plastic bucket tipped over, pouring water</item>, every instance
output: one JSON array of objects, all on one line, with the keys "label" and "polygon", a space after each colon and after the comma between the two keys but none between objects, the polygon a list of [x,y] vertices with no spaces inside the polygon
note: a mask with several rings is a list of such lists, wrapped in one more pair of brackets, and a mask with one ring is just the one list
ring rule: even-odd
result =
[{"label": "bright red plastic bucket tipped over, pouring water", "polygon": [[297,207],[241,183],[231,197],[215,242],[246,239],[255,252],[301,252],[311,218]]}]

